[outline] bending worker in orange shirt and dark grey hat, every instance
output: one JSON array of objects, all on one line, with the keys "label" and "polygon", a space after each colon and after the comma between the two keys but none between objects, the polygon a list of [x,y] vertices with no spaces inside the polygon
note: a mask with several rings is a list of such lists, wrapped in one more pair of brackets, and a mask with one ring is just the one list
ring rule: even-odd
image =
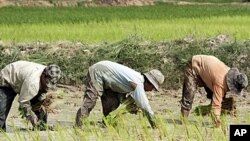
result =
[{"label": "bending worker in orange shirt and dark grey hat", "polygon": [[215,127],[220,127],[222,102],[228,91],[241,95],[248,85],[247,76],[237,68],[229,68],[218,58],[210,55],[194,55],[184,71],[181,113],[188,117],[197,87],[204,87],[211,99]]}]

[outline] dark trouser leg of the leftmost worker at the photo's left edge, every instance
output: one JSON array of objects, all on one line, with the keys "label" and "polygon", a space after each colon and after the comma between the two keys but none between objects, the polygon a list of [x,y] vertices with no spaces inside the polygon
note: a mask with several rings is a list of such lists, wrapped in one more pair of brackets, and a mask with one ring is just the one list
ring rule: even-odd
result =
[{"label": "dark trouser leg of the leftmost worker at the photo's left edge", "polygon": [[7,116],[16,95],[12,88],[0,87],[0,129],[4,131],[6,131]]}]

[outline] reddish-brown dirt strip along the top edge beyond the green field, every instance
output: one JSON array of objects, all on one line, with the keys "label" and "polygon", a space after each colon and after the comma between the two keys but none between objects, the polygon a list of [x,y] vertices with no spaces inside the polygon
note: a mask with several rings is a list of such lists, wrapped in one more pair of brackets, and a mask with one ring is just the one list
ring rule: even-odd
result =
[{"label": "reddish-brown dirt strip along the top edge beyond the green field", "polygon": [[176,5],[250,5],[249,1],[230,3],[187,2],[177,0],[0,0],[0,7],[6,6],[40,6],[40,7],[95,7],[95,6],[143,6],[154,5],[157,2],[173,3]]}]

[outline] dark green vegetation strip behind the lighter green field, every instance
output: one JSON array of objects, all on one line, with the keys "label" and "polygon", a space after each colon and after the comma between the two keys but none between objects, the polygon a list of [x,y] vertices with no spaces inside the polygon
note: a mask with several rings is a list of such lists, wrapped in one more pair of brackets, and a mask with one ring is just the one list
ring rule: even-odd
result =
[{"label": "dark green vegetation strip behind the lighter green field", "polygon": [[217,16],[249,16],[249,6],[177,6],[158,4],[143,7],[4,7],[0,24],[65,24],[110,22],[113,20],[171,20]]}]

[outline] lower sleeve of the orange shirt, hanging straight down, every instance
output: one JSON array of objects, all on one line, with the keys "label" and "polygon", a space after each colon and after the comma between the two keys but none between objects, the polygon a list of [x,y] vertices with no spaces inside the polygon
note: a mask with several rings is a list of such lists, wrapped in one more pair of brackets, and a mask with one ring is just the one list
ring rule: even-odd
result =
[{"label": "lower sleeve of the orange shirt, hanging straight down", "polygon": [[212,110],[216,116],[220,116],[221,114],[221,103],[222,103],[224,95],[225,95],[225,91],[222,87],[214,86]]}]

